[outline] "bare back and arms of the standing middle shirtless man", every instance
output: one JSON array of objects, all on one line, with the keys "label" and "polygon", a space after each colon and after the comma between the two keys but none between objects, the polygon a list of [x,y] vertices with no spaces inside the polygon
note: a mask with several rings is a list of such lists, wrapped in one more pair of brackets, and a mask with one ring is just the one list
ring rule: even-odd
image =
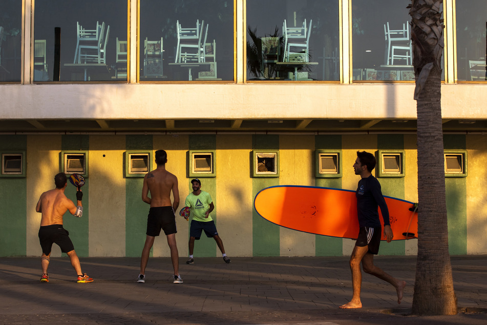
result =
[{"label": "bare back and arms of the standing middle shirtless man", "polygon": [[[151,192],[151,197],[147,196]],[[174,202],[171,204],[171,191],[173,191]],[[147,173],[144,177],[142,187],[142,200],[151,207],[173,207],[176,210],[179,206],[178,178],[168,172],[164,166]]]}]

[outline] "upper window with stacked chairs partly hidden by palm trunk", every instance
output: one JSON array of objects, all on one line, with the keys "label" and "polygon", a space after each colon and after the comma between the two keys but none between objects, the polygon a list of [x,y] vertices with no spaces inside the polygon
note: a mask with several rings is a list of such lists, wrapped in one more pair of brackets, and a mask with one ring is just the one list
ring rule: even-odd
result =
[{"label": "upper window with stacked chairs partly hidden by palm trunk", "polygon": [[352,0],[354,81],[414,80],[407,5],[403,0]]}]

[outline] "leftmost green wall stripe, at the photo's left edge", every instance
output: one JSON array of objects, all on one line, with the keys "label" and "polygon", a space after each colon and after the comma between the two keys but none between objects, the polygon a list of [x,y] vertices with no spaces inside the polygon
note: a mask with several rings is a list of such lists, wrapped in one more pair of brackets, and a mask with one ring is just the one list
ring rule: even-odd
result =
[{"label": "leftmost green wall stripe, at the photo's left edge", "polygon": [[[27,136],[0,136],[0,150],[27,150]],[[27,156],[27,154],[26,154]],[[24,157],[27,158],[27,157]],[[29,198],[35,200],[35,198]],[[15,202],[14,204],[12,204]],[[27,255],[27,179],[0,178],[0,256]]]}]

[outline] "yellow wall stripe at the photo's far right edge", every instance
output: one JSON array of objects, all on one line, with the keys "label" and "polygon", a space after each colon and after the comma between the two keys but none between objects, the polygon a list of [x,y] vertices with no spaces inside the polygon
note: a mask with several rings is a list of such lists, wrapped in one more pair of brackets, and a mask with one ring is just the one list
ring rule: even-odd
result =
[{"label": "yellow wall stripe at the photo's far right edge", "polygon": [[485,136],[467,136],[467,253],[487,252],[487,141]]}]

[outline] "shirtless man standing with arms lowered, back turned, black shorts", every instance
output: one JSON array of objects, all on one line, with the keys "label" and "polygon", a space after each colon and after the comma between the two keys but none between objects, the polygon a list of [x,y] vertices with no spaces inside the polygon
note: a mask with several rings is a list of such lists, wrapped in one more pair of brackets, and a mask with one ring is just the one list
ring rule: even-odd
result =
[{"label": "shirtless man standing with arms lowered, back turned, black shorts", "polygon": [[[179,276],[179,254],[176,246],[176,218],[174,211],[179,206],[178,178],[166,171],[167,154],[164,150],[156,151],[157,168],[144,177],[142,187],[142,200],[151,205],[149,216],[147,216],[147,232],[145,245],[140,259],[140,274],[137,282],[145,282],[145,267],[149,260],[149,253],[154,245],[154,238],[159,236],[161,229],[167,237],[167,244],[171,249],[171,260],[174,268],[174,282],[183,283]],[[148,197],[149,191],[151,197]],[[171,191],[173,191],[174,202],[171,205]]]}]

